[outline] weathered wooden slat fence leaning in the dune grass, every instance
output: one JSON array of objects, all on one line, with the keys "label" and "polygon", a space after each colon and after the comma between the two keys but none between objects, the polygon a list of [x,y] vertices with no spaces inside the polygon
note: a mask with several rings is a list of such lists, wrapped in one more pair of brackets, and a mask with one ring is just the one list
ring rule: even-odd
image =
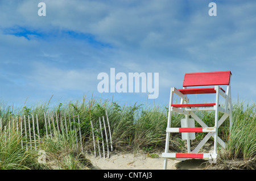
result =
[{"label": "weathered wooden slat fence leaning in the dune grass", "polygon": [[[22,149],[40,150],[39,144],[42,137],[53,138],[56,135],[64,135],[67,136],[68,139],[71,133],[75,132],[76,144],[78,148],[81,149],[82,153],[84,153],[85,138],[81,130],[83,121],[80,120],[79,114],[75,115],[74,112],[64,112],[63,117],[60,111],[47,111],[43,113],[43,119],[41,118],[39,120],[38,117],[38,114],[9,117],[8,120],[4,120],[0,117],[1,138],[3,138],[4,141],[8,141],[11,132],[16,132],[20,136]],[[102,158],[101,153],[103,153],[103,158],[106,158],[106,155],[107,158],[109,158],[109,146],[111,151],[113,151],[112,134],[107,111],[105,117],[99,117],[98,128],[95,128],[93,121],[90,121],[90,131],[92,134],[89,134],[91,138],[87,139],[87,141],[93,142],[94,157],[97,157],[98,154],[99,157]],[[96,145],[98,145],[98,149],[96,149]]]}]

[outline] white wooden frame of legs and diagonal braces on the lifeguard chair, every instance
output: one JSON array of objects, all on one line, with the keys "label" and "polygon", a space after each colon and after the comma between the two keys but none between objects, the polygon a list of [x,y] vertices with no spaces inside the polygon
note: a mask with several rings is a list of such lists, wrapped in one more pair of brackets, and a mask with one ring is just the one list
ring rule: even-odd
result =
[{"label": "white wooden frame of legs and diagonal braces on the lifeguard chair", "polygon": [[[196,148],[191,151],[190,147],[190,139],[187,137],[187,152],[191,154],[196,154],[199,152],[199,150],[204,146],[204,144],[209,140],[210,137],[214,138],[214,148],[213,148],[213,153],[205,153],[203,158],[208,158],[208,159],[216,159],[217,157],[217,143],[219,143],[223,148],[226,148],[226,144],[224,141],[221,140],[220,137],[218,137],[218,128],[224,121],[229,117],[229,124],[230,124],[230,131],[232,128],[232,99],[231,99],[231,77],[232,74],[230,74],[230,81],[229,85],[227,85],[226,92],[222,91],[220,89],[220,86],[216,85],[214,86],[214,90],[216,90],[216,102],[215,106],[213,108],[176,108],[172,107],[173,99],[174,99],[174,94],[179,96],[181,98],[181,103],[180,104],[187,104],[189,103],[189,99],[187,95],[182,94],[179,90],[177,90],[175,87],[171,87],[170,90],[170,102],[169,102],[169,110],[168,110],[168,120],[167,120],[167,129],[166,129],[166,144],[165,144],[165,150],[164,153],[162,154],[162,157],[164,158],[164,165],[163,169],[167,169],[167,161],[168,158],[171,159],[177,159],[175,157],[175,153],[168,153],[169,151],[169,143],[170,143],[170,133],[171,132],[177,132],[177,129],[171,128],[171,116],[172,112],[177,112],[185,115],[185,119],[188,121],[188,116],[192,116],[193,119],[197,121],[202,127],[209,128],[207,124],[204,123],[203,120],[201,120],[194,111],[214,111],[215,112],[215,118],[214,118],[214,129],[212,129],[212,132],[208,132],[208,134],[201,140],[201,142],[196,146]],[[187,87],[183,87],[183,89],[187,89]],[[224,107],[220,107],[219,105],[219,99],[220,95],[225,99],[225,104]],[[222,112],[224,115],[218,119],[218,113]],[[188,135],[188,134],[187,134]],[[189,159],[189,158],[183,158],[184,159]]]}]

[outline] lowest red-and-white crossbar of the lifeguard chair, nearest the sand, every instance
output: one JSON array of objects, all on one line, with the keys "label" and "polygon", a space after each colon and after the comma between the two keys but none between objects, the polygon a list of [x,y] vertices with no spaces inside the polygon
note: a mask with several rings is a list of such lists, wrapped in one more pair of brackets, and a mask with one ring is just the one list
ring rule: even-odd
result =
[{"label": "lowest red-and-white crossbar of the lifeguard chair, nearest the sand", "polygon": [[163,158],[216,158],[216,154],[210,153],[162,153]]}]

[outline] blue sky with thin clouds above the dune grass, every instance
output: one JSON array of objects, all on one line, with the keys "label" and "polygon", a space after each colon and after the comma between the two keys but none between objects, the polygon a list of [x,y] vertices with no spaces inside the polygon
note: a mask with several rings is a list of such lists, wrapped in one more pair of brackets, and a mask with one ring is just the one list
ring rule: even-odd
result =
[{"label": "blue sky with thin clouds above the dune grass", "polygon": [[[46,16],[38,16],[38,3]],[[217,16],[209,16],[209,3]],[[166,106],[185,73],[232,71],[233,101],[256,102],[255,1],[0,1],[0,101],[33,105],[96,98],[97,75],[159,73],[159,97],[103,93]],[[207,101],[195,96],[195,102]]]}]

